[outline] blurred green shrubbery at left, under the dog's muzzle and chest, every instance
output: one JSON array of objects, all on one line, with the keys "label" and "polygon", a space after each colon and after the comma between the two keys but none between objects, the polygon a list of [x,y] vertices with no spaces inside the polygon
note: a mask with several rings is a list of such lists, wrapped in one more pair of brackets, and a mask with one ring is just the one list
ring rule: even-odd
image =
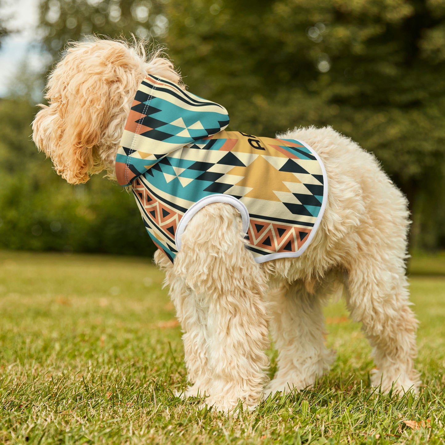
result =
[{"label": "blurred green shrubbery at left, under the dog's muzzle and chest", "polygon": [[153,254],[132,195],[100,176],[71,186],[37,152],[34,113],[27,97],[0,100],[0,248]]}]

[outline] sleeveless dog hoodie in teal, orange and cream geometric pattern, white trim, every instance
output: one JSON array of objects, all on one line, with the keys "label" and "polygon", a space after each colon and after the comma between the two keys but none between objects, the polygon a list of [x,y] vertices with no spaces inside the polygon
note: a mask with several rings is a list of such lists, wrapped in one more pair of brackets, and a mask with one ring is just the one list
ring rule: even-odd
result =
[{"label": "sleeveless dog hoodie in teal, orange and cream geometric pattern, white trim", "polygon": [[119,184],[131,185],[150,238],[172,262],[187,223],[211,202],[239,210],[257,263],[301,255],[326,206],[323,163],[302,141],[228,124],[223,106],[146,76],[116,156]]}]

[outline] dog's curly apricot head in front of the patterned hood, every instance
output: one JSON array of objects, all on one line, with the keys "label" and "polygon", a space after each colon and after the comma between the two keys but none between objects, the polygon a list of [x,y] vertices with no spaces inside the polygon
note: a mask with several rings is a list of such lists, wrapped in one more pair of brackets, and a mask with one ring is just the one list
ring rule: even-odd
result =
[{"label": "dog's curly apricot head in front of the patterned hood", "polygon": [[114,177],[114,159],[139,83],[146,74],[177,84],[181,80],[159,53],[146,57],[141,43],[95,37],[69,44],[48,79],[49,105],[40,105],[32,122],[32,138],[57,174],[71,184],[103,170]]}]

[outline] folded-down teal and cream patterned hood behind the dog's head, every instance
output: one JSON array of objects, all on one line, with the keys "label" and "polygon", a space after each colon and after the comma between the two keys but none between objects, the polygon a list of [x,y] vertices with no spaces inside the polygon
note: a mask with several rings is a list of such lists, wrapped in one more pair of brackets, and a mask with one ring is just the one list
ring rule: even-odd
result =
[{"label": "folded-down teal and cream patterned hood behind the dog's head", "polygon": [[139,85],[116,155],[116,177],[130,185],[166,155],[229,125],[227,110],[148,75]]}]

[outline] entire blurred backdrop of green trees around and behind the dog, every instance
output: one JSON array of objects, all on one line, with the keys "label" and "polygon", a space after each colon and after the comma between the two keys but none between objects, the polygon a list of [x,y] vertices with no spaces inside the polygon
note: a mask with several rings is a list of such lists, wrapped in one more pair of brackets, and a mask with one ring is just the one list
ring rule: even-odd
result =
[{"label": "entire blurred backdrop of green trees around and behind the dog", "polygon": [[[165,46],[190,91],[227,108],[229,129],[273,137],[332,125],[373,152],[409,198],[411,248],[445,248],[444,0],[43,0],[39,8],[29,54],[45,69],[28,57],[0,98],[0,248],[154,251],[131,195],[101,175],[66,184],[30,138],[53,61],[68,40],[91,33]],[[0,16],[0,44],[13,31]]]}]

